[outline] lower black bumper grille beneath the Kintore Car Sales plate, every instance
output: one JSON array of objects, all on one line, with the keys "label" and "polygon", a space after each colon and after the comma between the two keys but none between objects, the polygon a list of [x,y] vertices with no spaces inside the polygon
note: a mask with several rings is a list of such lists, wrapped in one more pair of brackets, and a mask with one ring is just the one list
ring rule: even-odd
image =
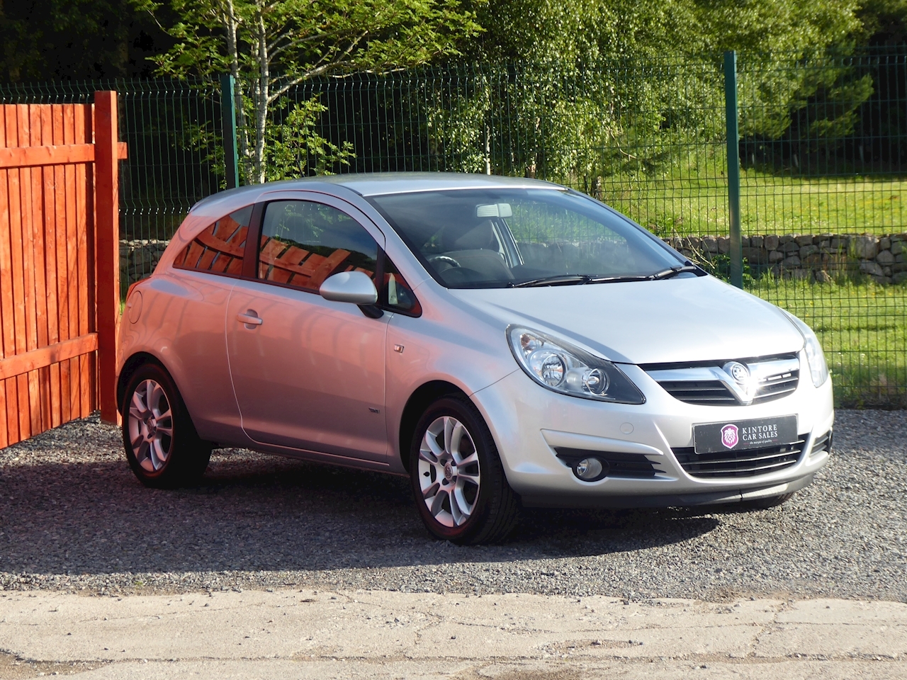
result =
[{"label": "lower black bumper grille beneath the Kintore Car Sales plate", "polygon": [[800,435],[799,441],[784,446],[771,446],[765,449],[748,449],[746,451],[719,451],[716,453],[697,453],[690,446],[673,449],[680,467],[691,477],[756,477],[784,470],[796,464],[806,444],[806,435]]}]

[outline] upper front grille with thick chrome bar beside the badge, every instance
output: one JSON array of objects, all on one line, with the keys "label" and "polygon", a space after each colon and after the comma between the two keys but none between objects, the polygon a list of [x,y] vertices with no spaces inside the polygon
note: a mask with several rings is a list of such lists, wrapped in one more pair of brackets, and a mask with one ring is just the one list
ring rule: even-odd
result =
[{"label": "upper front grille with thick chrome bar beside the badge", "polygon": [[[726,362],[695,364],[648,364],[641,368],[672,397],[700,406],[738,406],[764,403],[793,393],[800,380],[796,355],[742,359],[755,381],[752,399],[734,383],[722,366]],[[747,401],[748,400],[748,401]]]}]

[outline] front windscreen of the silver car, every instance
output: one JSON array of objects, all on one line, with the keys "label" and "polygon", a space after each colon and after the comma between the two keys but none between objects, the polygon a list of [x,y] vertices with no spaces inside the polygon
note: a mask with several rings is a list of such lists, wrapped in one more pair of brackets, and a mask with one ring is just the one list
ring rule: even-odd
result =
[{"label": "front windscreen of the silver car", "polygon": [[641,280],[684,261],[628,219],[556,189],[456,189],[370,199],[451,288]]}]

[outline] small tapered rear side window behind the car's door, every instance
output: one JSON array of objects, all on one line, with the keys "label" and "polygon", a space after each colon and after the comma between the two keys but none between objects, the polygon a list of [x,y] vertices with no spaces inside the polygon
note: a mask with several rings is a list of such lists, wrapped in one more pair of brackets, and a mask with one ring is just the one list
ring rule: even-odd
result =
[{"label": "small tapered rear side window behind the car's door", "polygon": [[251,217],[252,206],[247,206],[219,219],[182,249],[173,267],[239,276]]}]

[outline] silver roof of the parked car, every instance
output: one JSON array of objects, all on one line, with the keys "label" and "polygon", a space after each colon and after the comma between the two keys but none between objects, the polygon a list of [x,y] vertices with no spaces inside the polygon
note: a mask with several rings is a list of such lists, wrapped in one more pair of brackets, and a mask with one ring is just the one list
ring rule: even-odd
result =
[{"label": "silver roof of the parked car", "polygon": [[[253,184],[239,189],[228,189],[201,199],[192,207],[192,211],[203,205],[219,203],[222,200],[232,203],[231,199],[248,196],[258,200],[258,196],[270,191],[293,189],[315,189],[317,184],[336,184],[356,191],[361,196],[384,196],[387,194],[412,193],[415,191],[439,191],[445,189],[562,189],[560,185],[543,180],[532,180],[522,177],[502,177],[500,175],[478,175],[465,172],[367,172],[346,175],[320,175],[299,180],[282,180]],[[252,196],[255,194],[255,196]]]}]

